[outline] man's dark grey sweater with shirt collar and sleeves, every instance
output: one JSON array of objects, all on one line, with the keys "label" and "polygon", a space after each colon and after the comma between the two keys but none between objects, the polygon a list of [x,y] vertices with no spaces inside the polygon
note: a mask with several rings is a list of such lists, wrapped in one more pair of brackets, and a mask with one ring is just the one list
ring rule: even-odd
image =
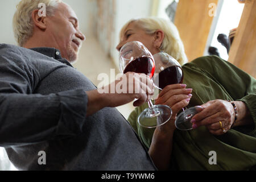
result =
[{"label": "man's dark grey sweater with shirt collar and sleeves", "polygon": [[0,146],[16,168],[156,169],[117,109],[86,117],[85,91],[93,89],[54,48],[0,44]]}]

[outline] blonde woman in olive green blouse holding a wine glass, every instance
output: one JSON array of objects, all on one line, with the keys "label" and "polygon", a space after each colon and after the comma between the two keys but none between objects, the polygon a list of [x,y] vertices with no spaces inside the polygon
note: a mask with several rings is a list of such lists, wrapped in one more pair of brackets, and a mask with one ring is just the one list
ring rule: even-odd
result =
[{"label": "blonde woman in olive green blouse holding a wine glass", "polygon": [[[137,40],[152,55],[163,51],[181,64],[186,61],[177,29],[167,20],[132,19],[123,26],[120,40],[118,50]],[[147,104],[137,107],[128,119],[156,166],[176,170],[256,169],[255,78],[217,56],[199,57],[182,68],[184,84],[166,86],[155,100],[155,104],[172,108],[170,121],[155,130],[139,126],[138,116]],[[193,130],[175,130],[174,121],[182,107],[197,105],[201,111],[191,120]]]}]

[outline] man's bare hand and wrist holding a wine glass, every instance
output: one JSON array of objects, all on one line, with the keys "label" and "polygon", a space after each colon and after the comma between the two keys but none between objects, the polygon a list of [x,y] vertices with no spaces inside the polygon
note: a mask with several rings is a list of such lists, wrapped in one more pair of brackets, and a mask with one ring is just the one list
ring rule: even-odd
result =
[{"label": "man's bare hand and wrist holding a wine glass", "polygon": [[127,72],[119,80],[97,90],[86,92],[88,107],[86,115],[91,115],[104,107],[116,107],[137,99],[133,105],[140,106],[154,94],[153,82],[143,73]]}]

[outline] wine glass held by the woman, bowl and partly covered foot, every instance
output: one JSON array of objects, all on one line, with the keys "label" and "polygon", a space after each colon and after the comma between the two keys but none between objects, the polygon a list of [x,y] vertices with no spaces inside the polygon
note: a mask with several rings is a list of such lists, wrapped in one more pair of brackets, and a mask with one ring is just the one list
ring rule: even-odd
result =
[{"label": "wine glass held by the woman, bowl and partly covered foot", "polygon": [[[155,60],[155,86],[162,90],[165,86],[171,84],[182,84],[183,82],[183,70],[178,61],[174,57],[168,55],[165,52],[159,52],[154,55]],[[180,113],[176,120],[175,126],[179,130],[191,130],[192,123],[191,118],[199,113],[200,107],[190,107],[189,109],[183,108],[183,112]]]}]

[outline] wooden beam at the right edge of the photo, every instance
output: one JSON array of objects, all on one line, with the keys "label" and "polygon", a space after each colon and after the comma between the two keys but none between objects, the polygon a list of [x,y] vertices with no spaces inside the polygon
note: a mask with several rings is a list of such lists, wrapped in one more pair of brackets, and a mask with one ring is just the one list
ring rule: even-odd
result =
[{"label": "wooden beam at the right edge of the photo", "polygon": [[230,63],[256,77],[256,1],[246,0],[229,51]]}]

